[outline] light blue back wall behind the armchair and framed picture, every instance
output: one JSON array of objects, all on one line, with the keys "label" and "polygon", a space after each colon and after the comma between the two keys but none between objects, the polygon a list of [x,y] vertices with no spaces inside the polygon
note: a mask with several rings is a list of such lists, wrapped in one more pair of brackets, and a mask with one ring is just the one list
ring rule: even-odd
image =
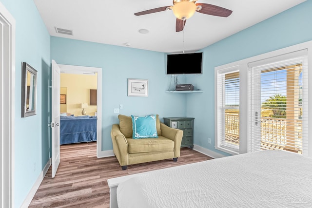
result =
[{"label": "light blue back wall behind the armchair and framed picture", "polygon": [[[51,58],[58,64],[102,68],[102,150],[112,150],[110,131],[120,114],[159,117],[185,116],[186,95],[165,93],[171,76],[166,75],[163,53],[51,37]],[[127,78],[148,79],[148,97],[127,96]],[[183,78],[183,77],[181,77]]]}]

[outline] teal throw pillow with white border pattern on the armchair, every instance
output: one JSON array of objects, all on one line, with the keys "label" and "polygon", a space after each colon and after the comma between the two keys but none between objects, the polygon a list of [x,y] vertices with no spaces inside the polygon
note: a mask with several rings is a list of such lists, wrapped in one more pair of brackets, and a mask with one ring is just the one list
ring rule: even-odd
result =
[{"label": "teal throw pillow with white border pattern on the armchair", "polygon": [[158,138],[156,130],[156,115],[136,116],[131,115],[132,138]]}]

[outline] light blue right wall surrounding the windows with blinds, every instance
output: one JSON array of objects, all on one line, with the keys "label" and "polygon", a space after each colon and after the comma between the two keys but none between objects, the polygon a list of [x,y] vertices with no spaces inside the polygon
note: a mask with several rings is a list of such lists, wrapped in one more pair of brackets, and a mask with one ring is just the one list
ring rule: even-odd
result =
[{"label": "light blue right wall surrounding the windows with blinds", "polygon": [[204,91],[187,97],[187,116],[195,117],[196,145],[228,155],[215,150],[215,67],[312,40],[311,11],[312,0],[307,0],[201,50],[203,75],[187,77]]}]

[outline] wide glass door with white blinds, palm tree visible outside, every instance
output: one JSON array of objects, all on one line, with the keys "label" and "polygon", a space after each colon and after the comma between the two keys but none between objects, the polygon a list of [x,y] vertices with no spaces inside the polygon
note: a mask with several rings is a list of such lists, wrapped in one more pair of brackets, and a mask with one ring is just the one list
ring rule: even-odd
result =
[{"label": "wide glass door with white blinds, palm tree visible outside", "polygon": [[307,50],[248,65],[249,151],[308,154]]}]

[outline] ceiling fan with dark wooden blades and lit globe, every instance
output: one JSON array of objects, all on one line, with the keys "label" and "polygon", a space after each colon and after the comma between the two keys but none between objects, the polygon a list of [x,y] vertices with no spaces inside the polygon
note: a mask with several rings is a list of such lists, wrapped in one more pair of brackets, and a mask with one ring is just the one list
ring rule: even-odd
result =
[{"label": "ceiling fan with dark wooden blades and lit globe", "polygon": [[208,3],[196,3],[196,0],[173,0],[173,4],[173,6],[163,6],[137,12],[135,15],[140,16],[166,10],[173,10],[176,16],[176,32],[180,32],[185,26],[186,19],[192,17],[195,12],[218,17],[229,17],[232,14],[232,11],[229,9]]}]

